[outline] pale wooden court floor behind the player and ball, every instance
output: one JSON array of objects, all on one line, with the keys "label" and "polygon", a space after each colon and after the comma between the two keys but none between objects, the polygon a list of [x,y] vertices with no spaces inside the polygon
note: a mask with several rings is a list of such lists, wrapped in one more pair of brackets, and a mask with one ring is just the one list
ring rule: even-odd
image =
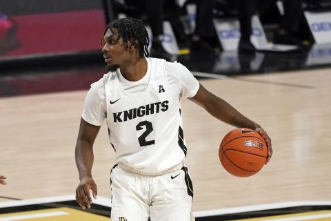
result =
[{"label": "pale wooden court floor behind the player and ball", "polygon": [[[193,211],[331,199],[331,69],[249,75],[200,82],[258,122],[272,139],[270,164],[252,177],[228,174],[218,148],[232,130],[188,99],[182,101],[185,160],[194,185]],[[74,195],[74,146],[87,90],[0,99],[0,196]],[[113,150],[105,125],[94,144],[98,195],[110,198]],[[0,202],[10,201],[0,198]]]}]

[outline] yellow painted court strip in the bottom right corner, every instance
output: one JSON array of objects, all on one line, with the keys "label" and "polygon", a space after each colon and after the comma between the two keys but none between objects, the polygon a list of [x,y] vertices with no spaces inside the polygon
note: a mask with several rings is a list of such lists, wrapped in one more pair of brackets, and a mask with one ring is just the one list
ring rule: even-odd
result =
[{"label": "yellow painted court strip in the bottom right corner", "polygon": [[243,220],[236,220],[236,221],[330,221],[331,220],[331,210],[325,211],[314,211],[314,212],[307,212],[307,213],[294,213],[288,215],[273,215],[263,217],[263,218],[251,218],[251,219],[243,219]]}]

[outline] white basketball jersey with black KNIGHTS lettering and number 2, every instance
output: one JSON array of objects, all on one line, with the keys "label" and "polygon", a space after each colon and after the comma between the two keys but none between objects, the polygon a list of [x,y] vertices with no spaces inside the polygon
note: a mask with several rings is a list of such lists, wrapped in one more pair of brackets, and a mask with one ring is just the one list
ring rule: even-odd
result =
[{"label": "white basketball jersey with black KNIGHTS lettering and number 2", "polygon": [[[166,65],[172,68],[165,68]],[[117,162],[144,173],[159,173],[185,158],[187,148],[180,109],[180,98],[185,97],[182,87],[188,84],[190,92],[186,97],[192,97],[199,89],[199,82],[189,72],[191,76],[186,81],[190,82],[181,82],[178,70],[183,66],[178,63],[150,58],[148,66],[148,86],[139,97],[123,89],[119,70],[104,75],[97,82],[103,86],[97,90],[102,88],[106,95],[105,116]],[[89,122],[86,116],[83,114],[83,119]]]}]

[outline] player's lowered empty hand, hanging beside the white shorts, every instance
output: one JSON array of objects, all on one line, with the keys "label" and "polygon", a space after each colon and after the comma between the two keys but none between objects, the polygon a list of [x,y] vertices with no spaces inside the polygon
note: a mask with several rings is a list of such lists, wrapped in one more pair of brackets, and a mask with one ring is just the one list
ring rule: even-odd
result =
[{"label": "player's lowered empty hand, hanging beside the white shorts", "polygon": [[81,209],[91,208],[92,198],[90,190],[92,190],[93,198],[97,199],[97,184],[95,184],[92,177],[83,177],[76,189],[76,200]]}]

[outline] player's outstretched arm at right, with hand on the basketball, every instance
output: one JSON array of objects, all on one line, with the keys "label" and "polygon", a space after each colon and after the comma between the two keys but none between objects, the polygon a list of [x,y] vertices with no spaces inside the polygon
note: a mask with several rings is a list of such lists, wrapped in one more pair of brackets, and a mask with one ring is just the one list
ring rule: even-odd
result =
[{"label": "player's outstretched arm at right, with hand on the basketball", "polygon": [[239,111],[228,104],[228,102],[225,102],[220,97],[210,93],[210,91],[206,90],[201,84],[197,94],[194,95],[194,97],[190,97],[189,99],[203,107],[206,111],[208,111],[208,113],[210,113],[210,115],[216,117],[222,122],[225,122],[226,124],[230,124],[238,128],[250,128],[252,130],[258,131],[268,145],[267,162],[270,161],[272,155],[271,140],[266,131],[263,130],[259,124],[253,122],[252,120],[239,113]]}]

